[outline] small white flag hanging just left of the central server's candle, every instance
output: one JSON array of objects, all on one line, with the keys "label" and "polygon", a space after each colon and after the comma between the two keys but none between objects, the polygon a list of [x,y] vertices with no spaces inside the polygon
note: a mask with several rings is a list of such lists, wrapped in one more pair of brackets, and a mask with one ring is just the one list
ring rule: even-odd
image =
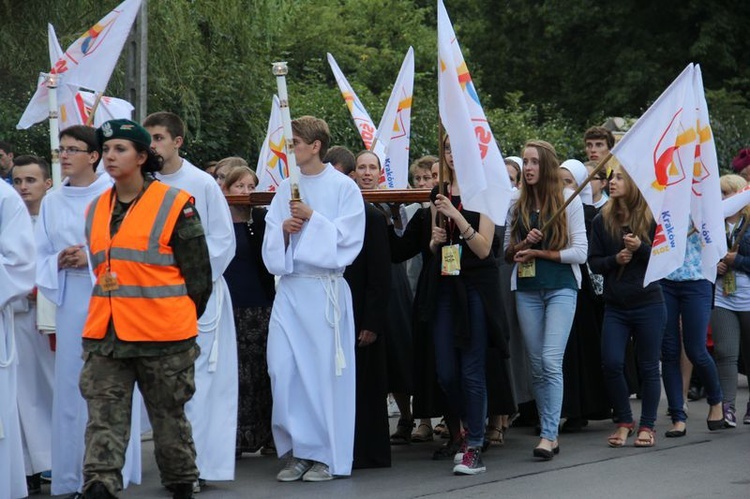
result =
[{"label": "small white flag hanging just left of the central server's candle", "polygon": [[289,176],[289,166],[286,160],[286,138],[284,124],[281,121],[281,105],[279,98],[273,96],[271,116],[268,118],[266,139],[260,149],[258,166],[258,191],[276,191],[282,180]]}]

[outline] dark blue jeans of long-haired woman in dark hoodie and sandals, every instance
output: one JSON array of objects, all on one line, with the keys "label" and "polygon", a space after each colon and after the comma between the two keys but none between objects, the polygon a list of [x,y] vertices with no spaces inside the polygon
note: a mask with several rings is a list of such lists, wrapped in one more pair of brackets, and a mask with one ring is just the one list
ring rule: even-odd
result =
[{"label": "dark blue jeans of long-haired woman in dark hoodie and sandals", "polygon": [[635,309],[607,305],[602,327],[602,364],[604,382],[615,415],[621,423],[632,423],[630,390],[625,381],[625,350],[632,335],[635,339],[638,371],[641,375],[641,421],[639,426],[654,428],[661,396],[659,356],[661,354],[667,309],[654,303]]}]

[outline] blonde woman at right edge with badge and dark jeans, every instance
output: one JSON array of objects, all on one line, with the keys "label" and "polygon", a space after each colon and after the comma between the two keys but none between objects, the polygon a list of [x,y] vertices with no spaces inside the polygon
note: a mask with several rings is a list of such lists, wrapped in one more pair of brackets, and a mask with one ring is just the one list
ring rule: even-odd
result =
[{"label": "blonde woman at right edge with badge and dark jeans", "polygon": [[[747,187],[739,175],[721,177],[721,195],[730,197]],[[711,333],[714,339],[714,358],[719,370],[719,383],[724,394],[724,420],[737,426],[735,398],[737,397],[737,362],[742,351],[745,372],[750,372],[750,208],[727,217],[726,233],[729,253],[719,262],[711,312]],[[736,251],[733,246],[738,245]],[[750,402],[743,418],[750,424]]]}]

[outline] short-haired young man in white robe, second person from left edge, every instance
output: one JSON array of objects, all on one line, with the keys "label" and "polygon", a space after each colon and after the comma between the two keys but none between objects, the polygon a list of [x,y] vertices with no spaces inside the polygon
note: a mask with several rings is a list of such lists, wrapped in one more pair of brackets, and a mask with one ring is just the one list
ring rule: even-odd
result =
[{"label": "short-haired young man in white robe, second person from left edge", "polygon": [[[11,170],[13,187],[21,196],[32,227],[39,216],[42,199],[52,187],[50,167],[37,156],[16,156]],[[33,234],[33,232],[32,232]],[[14,303],[16,348],[18,351],[18,415],[29,493],[38,491],[42,471],[52,467],[52,395],[55,353],[50,338],[37,326],[36,290]]]}]

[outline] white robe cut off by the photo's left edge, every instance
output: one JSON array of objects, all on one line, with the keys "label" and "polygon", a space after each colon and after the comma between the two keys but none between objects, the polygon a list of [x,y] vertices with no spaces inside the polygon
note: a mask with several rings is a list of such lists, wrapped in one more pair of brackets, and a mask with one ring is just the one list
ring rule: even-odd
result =
[{"label": "white robe cut off by the photo's left edge", "polygon": [[16,404],[18,358],[13,303],[34,287],[31,218],[16,191],[0,182],[0,498],[26,497]]}]

